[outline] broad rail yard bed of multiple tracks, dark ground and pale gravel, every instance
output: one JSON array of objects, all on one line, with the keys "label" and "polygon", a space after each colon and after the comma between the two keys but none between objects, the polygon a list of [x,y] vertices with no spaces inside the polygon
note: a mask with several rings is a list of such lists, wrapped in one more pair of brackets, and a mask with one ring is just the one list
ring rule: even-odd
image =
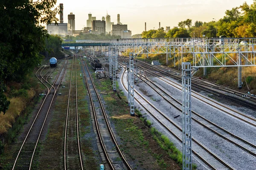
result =
[{"label": "broad rail yard bed of multiple tracks, dark ground and pale gravel", "polygon": [[[141,155],[140,159],[134,159],[135,153],[125,150],[126,141],[119,136],[114,123],[116,116],[134,118],[125,111],[113,114],[115,109],[109,108],[105,94],[97,89],[99,84],[109,81],[108,76],[96,77],[99,69],[109,74],[105,56],[96,57],[87,50],[72,54],[58,60],[53,68],[47,63],[36,71],[35,76],[46,90],[14,144],[7,169],[99,169],[100,166],[106,170],[151,169],[141,163]],[[118,61],[117,93],[128,97],[128,57],[120,55]],[[182,150],[181,73],[140,60],[135,66],[137,111]],[[122,101],[127,105],[126,98]],[[192,77],[192,157],[196,169],[256,167],[255,102],[253,96],[244,97],[238,91]],[[84,117],[87,117],[85,122]],[[88,153],[92,148],[94,156]],[[152,169],[180,169],[178,165],[158,166]]]}]

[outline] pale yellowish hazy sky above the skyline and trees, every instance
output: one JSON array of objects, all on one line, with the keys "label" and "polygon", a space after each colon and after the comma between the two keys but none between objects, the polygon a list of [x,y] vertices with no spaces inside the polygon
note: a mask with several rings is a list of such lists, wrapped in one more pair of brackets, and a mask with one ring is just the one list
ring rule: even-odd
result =
[{"label": "pale yellowish hazy sky above the skyline and trees", "polygon": [[64,23],[70,12],[75,14],[76,30],[86,26],[89,13],[101,20],[108,11],[111,22],[116,24],[120,14],[120,22],[127,24],[132,34],[138,34],[145,30],[145,22],[149,30],[159,28],[159,22],[161,27],[173,28],[186,19],[192,19],[192,23],[219,20],[226,10],[244,2],[252,4],[253,0],[57,0],[57,5],[63,3]]}]

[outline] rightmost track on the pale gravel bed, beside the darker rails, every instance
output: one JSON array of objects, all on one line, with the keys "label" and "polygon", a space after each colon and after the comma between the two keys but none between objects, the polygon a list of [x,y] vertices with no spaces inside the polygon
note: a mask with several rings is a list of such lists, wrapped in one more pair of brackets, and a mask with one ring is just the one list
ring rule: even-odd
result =
[{"label": "rightmost track on the pale gravel bed, beside the darker rails", "polygon": [[[144,74],[150,74],[154,77],[156,77],[157,79],[159,79],[160,81],[159,82],[163,82],[163,83],[166,83],[168,85],[171,85],[172,87],[175,87],[177,89],[179,89],[180,91],[182,90],[182,86],[180,85],[180,83],[177,83],[177,82],[174,82],[166,77],[163,77],[162,75],[160,74],[157,74],[155,73],[154,71],[151,71],[150,69],[148,69],[148,67],[144,68],[143,66],[139,66],[138,65],[138,68],[141,68],[144,70]],[[154,69],[154,68],[151,68],[151,69]],[[147,78],[147,77],[145,77]],[[149,79],[148,79],[149,81]],[[150,81],[151,83],[153,83],[152,81]],[[154,83],[155,84],[155,83]],[[192,94],[191,96],[195,97],[196,99],[206,103],[207,105],[210,105],[212,106],[213,108],[216,108],[224,113],[226,113],[227,115],[230,115],[230,116],[233,116],[234,118],[236,119],[239,119],[253,127],[256,127],[256,119],[254,119],[253,117],[251,116],[248,116],[244,113],[241,113],[239,111],[236,111],[230,107],[227,107],[226,105],[223,105],[221,104],[220,102],[216,102],[215,100],[213,99],[209,99],[209,97],[206,97],[204,95],[201,95],[195,91],[192,91]],[[202,99],[203,98],[203,99]],[[180,103],[181,105],[181,103]]]}]

